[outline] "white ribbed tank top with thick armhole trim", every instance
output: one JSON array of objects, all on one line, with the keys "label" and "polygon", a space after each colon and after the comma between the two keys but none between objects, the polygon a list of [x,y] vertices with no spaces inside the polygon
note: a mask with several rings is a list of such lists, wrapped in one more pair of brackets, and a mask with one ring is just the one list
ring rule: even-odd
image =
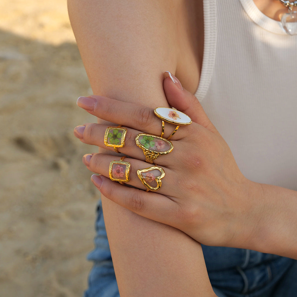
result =
[{"label": "white ribbed tank top with thick armhole trim", "polygon": [[297,35],[252,0],[204,0],[196,97],[252,181],[297,190]]}]

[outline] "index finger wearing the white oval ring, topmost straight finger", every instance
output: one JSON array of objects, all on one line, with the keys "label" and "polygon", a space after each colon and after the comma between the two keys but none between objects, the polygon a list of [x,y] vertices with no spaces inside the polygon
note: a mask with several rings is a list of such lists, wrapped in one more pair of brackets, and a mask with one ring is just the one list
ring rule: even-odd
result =
[{"label": "index finger wearing the white oval ring, topmost straight finger", "polygon": [[[162,120],[154,110],[142,105],[122,102],[107,97],[92,95],[92,97],[79,97],[77,104],[100,119],[121,124],[144,133],[161,135]],[[158,107],[158,106],[156,106]],[[168,138],[176,125],[165,122],[164,138]],[[186,127],[180,127],[172,139],[181,139],[186,135]]]}]

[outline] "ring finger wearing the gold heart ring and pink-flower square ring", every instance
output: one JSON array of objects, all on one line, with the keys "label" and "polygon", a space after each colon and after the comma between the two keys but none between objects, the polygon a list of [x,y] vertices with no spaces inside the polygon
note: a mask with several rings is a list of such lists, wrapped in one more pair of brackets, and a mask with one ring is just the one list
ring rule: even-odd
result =
[{"label": "ring finger wearing the gold heart ring and pink-flower square ring", "polygon": [[[83,163],[87,166],[87,168],[90,171],[94,173],[99,173],[109,178],[110,162],[119,159],[120,157],[99,153],[86,154],[83,156]],[[132,158],[125,158],[124,161],[130,163],[129,181],[127,181],[126,183],[132,185],[133,187],[146,190],[146,187],[144,187],[144,185],[140,181],[140,178],[137,175],[137,170],[146,169],[154,165]],[[165,176],[161,180],[162,185],[158,192],[160,192],[161,194],[166,193],[167,195],[176,195],[177,192],[179,192],[178,189],[173,190],[172,185],[168,183],[168,181],[174,181],[174,179],[176,178],[176,174],[168,168],[163,167],[162,169],[165,171]]]}]

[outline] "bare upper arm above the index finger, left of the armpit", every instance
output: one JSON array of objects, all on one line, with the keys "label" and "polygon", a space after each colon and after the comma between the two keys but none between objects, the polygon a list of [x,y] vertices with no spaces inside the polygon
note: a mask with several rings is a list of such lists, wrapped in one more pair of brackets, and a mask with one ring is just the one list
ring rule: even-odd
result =
[{"label": "bare upper arm above the index finger, left of the armpit", "polygon": [[178,2],[68,1],[94,94],[166,105],[163,72],[176,71]]}]

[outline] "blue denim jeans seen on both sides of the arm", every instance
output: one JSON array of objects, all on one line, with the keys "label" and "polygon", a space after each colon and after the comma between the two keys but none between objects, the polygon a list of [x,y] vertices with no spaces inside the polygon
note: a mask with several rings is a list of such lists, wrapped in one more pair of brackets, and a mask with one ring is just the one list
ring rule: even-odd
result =
[{"label": "blue denim jeans seen on both sides of the arm", "polygon": [[[119,297],[101,201],[97,207],[94,262],[84,297]],[[218,297],[296,297],[297,261],[246,249],[202,246],[208,276]]]}]

